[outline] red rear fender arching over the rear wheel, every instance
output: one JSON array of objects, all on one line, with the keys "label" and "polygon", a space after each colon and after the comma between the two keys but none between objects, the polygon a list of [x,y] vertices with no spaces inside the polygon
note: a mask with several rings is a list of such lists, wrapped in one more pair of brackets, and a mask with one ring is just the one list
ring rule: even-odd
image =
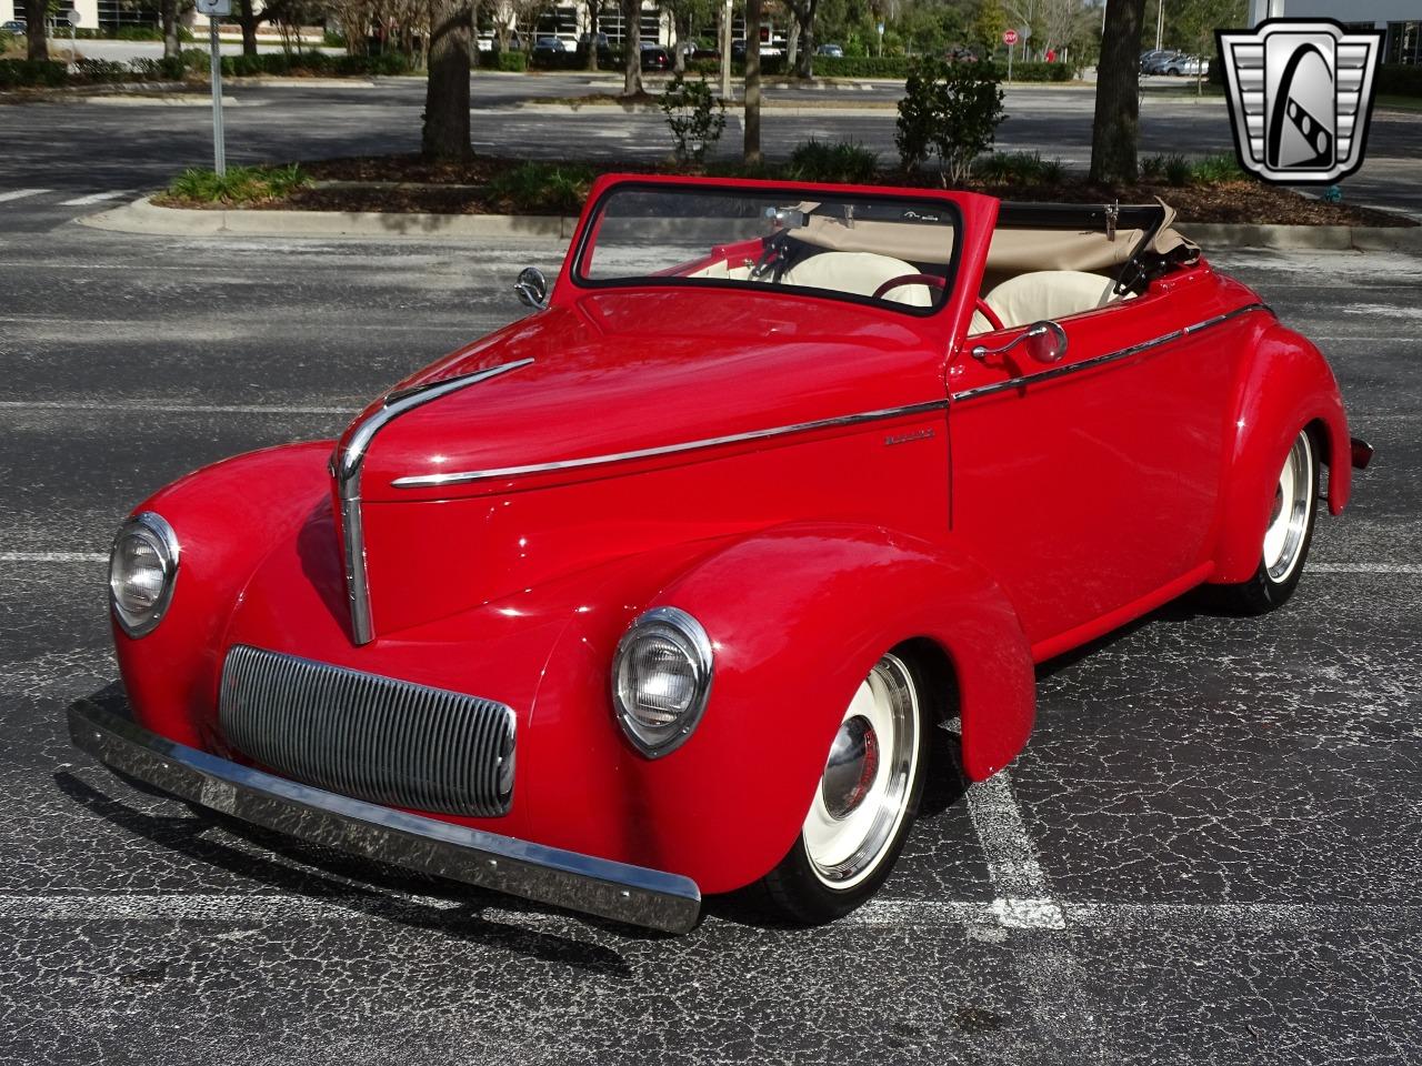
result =
[{"label": "red rear fender arching over the rear wheel", "polygon": [[1348,418],[1327,360],[1308,340],[1270,320],[1249,338],[1234,389],[1231,446],[1226,451],[1214,573],[1220,584],[1247,581],[1258,569],[1274,485],[1304,426],[1320,424],[1320,459],[1328,465],[1328,510],[1338,515],[1352,486]]}]

